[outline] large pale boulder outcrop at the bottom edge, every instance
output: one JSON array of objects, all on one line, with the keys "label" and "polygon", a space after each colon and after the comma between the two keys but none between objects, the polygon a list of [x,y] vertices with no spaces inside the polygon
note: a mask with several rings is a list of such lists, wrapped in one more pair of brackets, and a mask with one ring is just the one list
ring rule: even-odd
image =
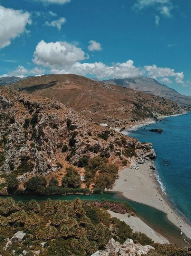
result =
[{"label": "large pale boulder outcrop at the bottom edge", "polygon": [[154,250],[150,245],[140,245],[137,241],[132,239],[126,239],[123,245],[119,242],[115,242],[112,238],[109,240],[106,250],[96,251],[92,256],[109,256],[109,255],[122,255],[122,256],[141,256],[142,254],[147,254],[149,250]]}]

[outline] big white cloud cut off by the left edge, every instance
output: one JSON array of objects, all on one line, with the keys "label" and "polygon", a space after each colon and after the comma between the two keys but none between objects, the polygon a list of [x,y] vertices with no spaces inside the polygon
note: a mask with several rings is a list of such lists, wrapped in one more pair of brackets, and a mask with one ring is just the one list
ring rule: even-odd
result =
[{"label": "big white cloud cut off by the left edge", "polygon": [[31,24],[29,12],[13,10],[0,6],[0,48],[11,44],[11,40],[20,36]]}]

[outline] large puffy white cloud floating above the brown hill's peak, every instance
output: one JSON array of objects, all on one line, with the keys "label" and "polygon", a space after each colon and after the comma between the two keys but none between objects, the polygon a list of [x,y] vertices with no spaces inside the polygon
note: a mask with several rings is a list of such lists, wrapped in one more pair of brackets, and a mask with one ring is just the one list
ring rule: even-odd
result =
[{"label": "large puffy white cloud floating above the brown hill's peak", "polygon": [[88,58],[89,56],[74,44],[67,42],[46,43],[42,40],[36,46],[32,61],[37,65],[60,69]]}]

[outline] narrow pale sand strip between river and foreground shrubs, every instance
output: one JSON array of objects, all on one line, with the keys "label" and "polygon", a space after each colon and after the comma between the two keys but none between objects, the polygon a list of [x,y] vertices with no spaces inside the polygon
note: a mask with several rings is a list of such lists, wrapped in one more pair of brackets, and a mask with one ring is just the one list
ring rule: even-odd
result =
[{"label": "narrow pale sand strip between river and foreground shrubs", "polygon": [[133,229],[133,232],[137,231],[137,232],[145,233],[154,242],[158,242],[160,244],[169,243],[169,241],[166,238],[164,238],[163,236],[155,232],[152,228],[147,226],[147,224],[145,224],[140,218],[133,217],[133,216],[128,218],[127,217],[128,214],[115,213],[109,210],[108,212],[112,215],[112,217],[116,217],[121,221],[125,221],[125,223],[129,225],[130,228]]}]

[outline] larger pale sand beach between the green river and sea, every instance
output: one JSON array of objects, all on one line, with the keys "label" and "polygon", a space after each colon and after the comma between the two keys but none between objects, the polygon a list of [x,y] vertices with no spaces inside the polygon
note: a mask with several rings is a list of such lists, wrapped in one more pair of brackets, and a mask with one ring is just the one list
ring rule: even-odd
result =
[{"label": "larger pale sand beach between the green river and sea", "polygon": [[[168,219],[179,228],[181,225],[182,232],[191,239],[191,226],[173,211],[170,203],[165,199],[165,195],[159,188],[150,165],[151,162],[147,162],[144,165],[139,165],[138,170],[123,169],[119,173],[120,177],[116,180],[113,190],[123,192],[123,195],[128,199],[153,206],[167,213]],[[125,179],[127,181],[124,181]],[[159,198],[162,198],[163,201],[159,201]],[[178,224],[178,221],[179,223],[181,221],[181,224]]]}]

